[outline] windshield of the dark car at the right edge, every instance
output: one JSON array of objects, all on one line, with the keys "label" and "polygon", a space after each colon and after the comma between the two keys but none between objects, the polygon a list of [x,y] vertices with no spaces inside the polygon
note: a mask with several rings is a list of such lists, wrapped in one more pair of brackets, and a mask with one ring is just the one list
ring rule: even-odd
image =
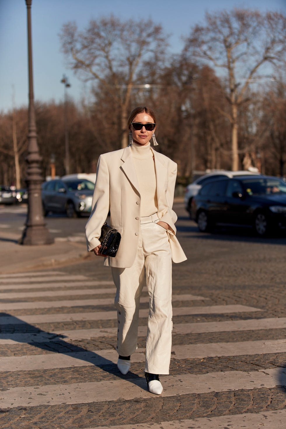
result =
[{"label": "windshield of the dark car at the right edge", "polygon": [[248,195],[286,194],[286,182],[277,178],[257,178],[243,181]]}]

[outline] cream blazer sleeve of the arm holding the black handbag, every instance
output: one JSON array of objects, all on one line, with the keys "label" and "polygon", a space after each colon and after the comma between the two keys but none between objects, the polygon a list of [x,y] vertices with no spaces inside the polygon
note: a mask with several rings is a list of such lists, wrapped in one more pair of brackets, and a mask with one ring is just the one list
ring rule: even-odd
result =
[{"label": "cream blazer sleeve of the arm holding the black handbag", "polygon": [[100,155],[94,186],[90,217],[85,226],[87,250],[90,252],[100,244],[101,227],[104,224],[110,208],[109,171],[107,163]]}]

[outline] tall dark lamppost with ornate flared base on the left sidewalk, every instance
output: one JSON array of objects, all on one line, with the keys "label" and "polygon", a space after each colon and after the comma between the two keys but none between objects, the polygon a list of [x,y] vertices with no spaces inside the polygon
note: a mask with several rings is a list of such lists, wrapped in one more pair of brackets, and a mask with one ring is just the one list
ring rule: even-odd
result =
[{"label": "tall dark lamppost with ornate flared base on the left sidewalk", "polygon": [[26,0],[27,5],[27,27],[28,27],[28,69],[29,69],[29,131],[28,131],[28,154],[27,154],[27,175],[26,183],[28,187],[28,214],[20,239],[23,245],[44,245],[51,244],[54,239],[50,236],[45,226],[42,213],[41,184],[42,171],[40,164],[42,157],[39,155],[37,143],[34,94],[33,94],[33,61],[32,61],[32,31],[31,31],[31,6],[32,0]]}]

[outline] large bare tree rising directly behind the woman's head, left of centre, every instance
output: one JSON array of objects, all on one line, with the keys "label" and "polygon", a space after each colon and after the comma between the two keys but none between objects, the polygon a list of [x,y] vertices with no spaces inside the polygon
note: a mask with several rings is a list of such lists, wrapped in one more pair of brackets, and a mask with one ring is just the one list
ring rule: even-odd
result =
[{"label": "large bare tree rising directly behind the woman's head, left of centre", "polygon": [[159,67],[164,58],[167,43],[162,27],[151,19],[121,22],[111,15],[90,20],[83,31],[68,22],[60,40],[70,68],[85,81],[100,83],[114,97],[114,110],[119,107],[121,112],[121,146],[126,146],[131,91],[135,84],[145,83],[137,80],[144,63],[156,61]]}]

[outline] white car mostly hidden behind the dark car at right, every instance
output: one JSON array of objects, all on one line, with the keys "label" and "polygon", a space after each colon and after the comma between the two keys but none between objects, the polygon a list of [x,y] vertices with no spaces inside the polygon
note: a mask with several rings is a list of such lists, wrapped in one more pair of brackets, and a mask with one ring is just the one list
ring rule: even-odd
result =
[{"label": "white car mostly hidden behind the dark car at right", "polygon": [[210,180],[224,178],[224,177],[237,177],[241,175],[260,175],[259,172],[249,172],[249,171],[214,171],[212,173],[205,174],[197,178],[193,183],[190,183],[185,190],[184,203],[185,208],[191,215],[191,205],[193,197],[199,192],[202,185],[207,183]]}]

